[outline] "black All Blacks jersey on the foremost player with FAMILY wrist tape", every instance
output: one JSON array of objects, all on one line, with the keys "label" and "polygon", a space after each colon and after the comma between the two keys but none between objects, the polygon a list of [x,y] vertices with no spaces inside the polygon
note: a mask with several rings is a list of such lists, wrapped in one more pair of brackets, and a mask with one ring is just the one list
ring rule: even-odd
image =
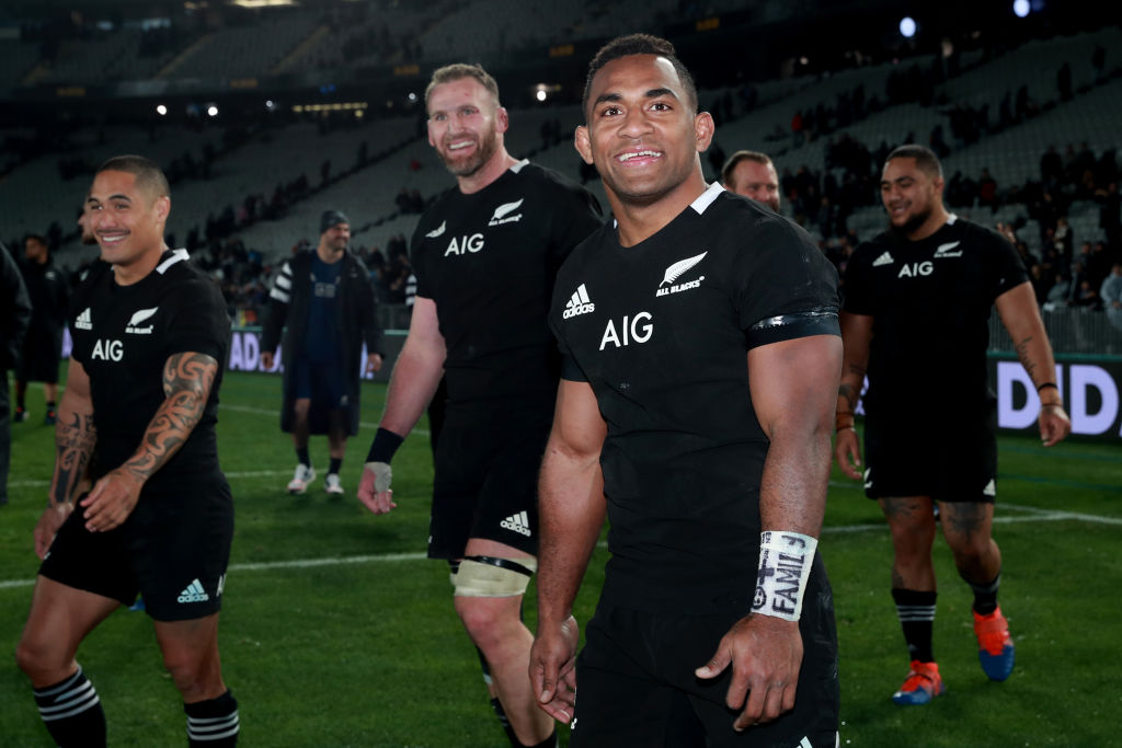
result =
[{"label": "black All Blacks jersey on the foremost player with FAMILY wrist tape", "polygon": [[747,351],[837,335],[837,274],[810,237],[719,184],[640,244],[606,225],[577,248],[550,326],[562,376],[591,385],[607,423],[606,599],[749,604],[769,441]]}]

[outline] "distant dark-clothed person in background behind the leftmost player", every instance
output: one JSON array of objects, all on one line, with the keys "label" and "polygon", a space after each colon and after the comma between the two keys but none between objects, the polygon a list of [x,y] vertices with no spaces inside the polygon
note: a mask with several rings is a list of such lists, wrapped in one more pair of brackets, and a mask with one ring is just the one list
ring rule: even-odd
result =
[{"label": "distant dark-clothed person in background behind the leftmost player", "polygon": [[42,381],[46,401],[43,422],[52,426],[58,403],[58,361],[70,284],[66,275],[50,261],[46,238],[30,234],[24,246],[24,284],[31,298],[33,312],[31,326],[24,339],[24,355],[16,368],[16,421],[27,421],[27,382]]}]

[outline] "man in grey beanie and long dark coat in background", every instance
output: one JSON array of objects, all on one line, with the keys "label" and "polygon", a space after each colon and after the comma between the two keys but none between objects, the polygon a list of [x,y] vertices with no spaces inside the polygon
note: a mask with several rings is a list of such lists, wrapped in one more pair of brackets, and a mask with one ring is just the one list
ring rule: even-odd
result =
[{"label": "man in grey beanie and long dark coat in background", "polygon": [[307,441],[311,434],[327,434],[331,465],[323,487],[328,493],[342,495],[339,469],[347,437],[358,434],[364,342],[365,370],[381,368],[374,285],[362,261],[347,251],[349,241],[347,216],[325,211],[320,218],[319,246],[285,262],[269,293],[261,363],[273,369],[273,353],[287,326],[280,428],[292,433],[300,461],[289,493],[303,493],[315,479]]}]

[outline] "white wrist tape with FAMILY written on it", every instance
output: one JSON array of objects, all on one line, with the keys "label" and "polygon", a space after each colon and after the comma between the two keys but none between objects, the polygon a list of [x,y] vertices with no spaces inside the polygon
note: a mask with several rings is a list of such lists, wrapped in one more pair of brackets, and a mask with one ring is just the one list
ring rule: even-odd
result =
[{"label": "white wrist tape with FAMILY written on it", "polygon": [[769,530],[760,534],[760,574],[752,612],[789,621],[802,613],[810,566],[818,539],[801,533]]}]

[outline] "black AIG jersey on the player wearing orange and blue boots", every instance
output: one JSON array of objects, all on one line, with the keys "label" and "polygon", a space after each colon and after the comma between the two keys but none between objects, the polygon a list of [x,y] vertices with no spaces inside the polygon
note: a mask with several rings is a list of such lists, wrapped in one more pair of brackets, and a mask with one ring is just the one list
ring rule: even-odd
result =
[{"label": "black AIG jersey on the player wearing orange and blue boots", "polygon": [[955,215],[920,241],[889,230],[857,247],[846,267],[845,311],[873,316],[866,413],[913,423],[941,421],[948,404],[983,413],[994,399],[990,313],[1028,278],[1001,234]]}]

